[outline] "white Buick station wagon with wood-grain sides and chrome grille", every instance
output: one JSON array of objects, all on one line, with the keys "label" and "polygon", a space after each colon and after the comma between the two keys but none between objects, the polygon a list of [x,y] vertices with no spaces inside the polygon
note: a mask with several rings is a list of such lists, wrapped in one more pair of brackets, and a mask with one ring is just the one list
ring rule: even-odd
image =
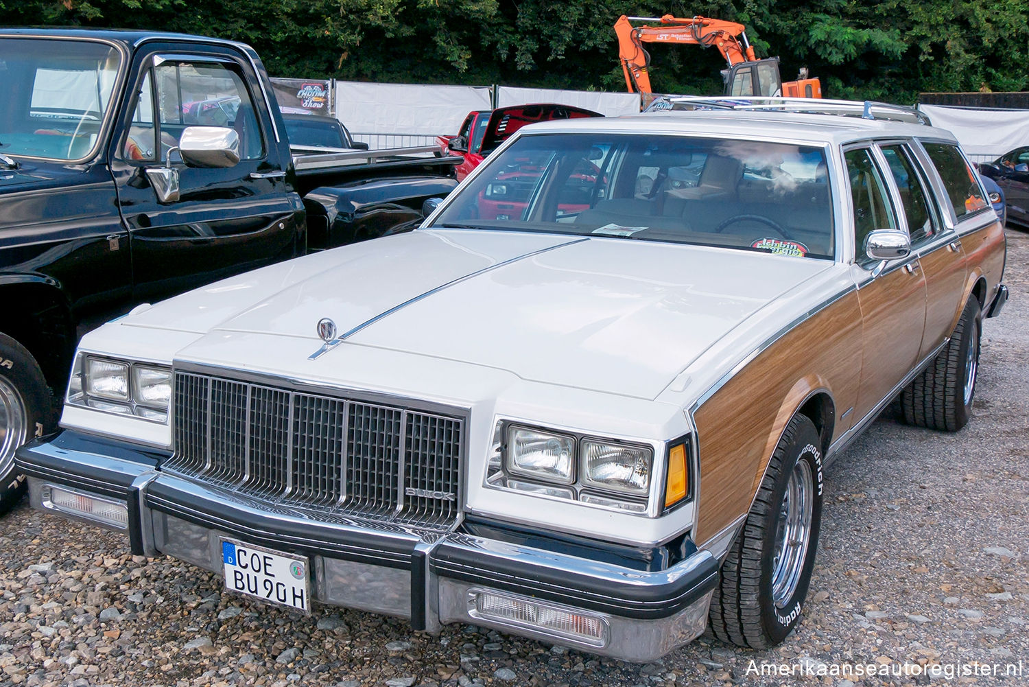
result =
[{"label": "white Buick station wagon with wood-grain sides and chrome grille", "polygon": [[663,106],[522,129],[416,231],[87,335],[32,505],[301,611],[780,642],[828,462],[898,396],[968,420],[1003,231],[911,110]]}]

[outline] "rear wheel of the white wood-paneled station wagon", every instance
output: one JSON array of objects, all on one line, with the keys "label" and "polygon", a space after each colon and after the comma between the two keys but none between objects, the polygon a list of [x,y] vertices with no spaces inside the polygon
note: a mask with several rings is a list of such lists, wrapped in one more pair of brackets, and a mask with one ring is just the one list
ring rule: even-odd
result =
[{"label": "rear wheel of the white wood-paneled station wagon", "polygon": [[904,422],[947,432],[957,432],[968,422],[975,399],[982,330],[979,301],[970,298],[950,343],[900,392]]}]

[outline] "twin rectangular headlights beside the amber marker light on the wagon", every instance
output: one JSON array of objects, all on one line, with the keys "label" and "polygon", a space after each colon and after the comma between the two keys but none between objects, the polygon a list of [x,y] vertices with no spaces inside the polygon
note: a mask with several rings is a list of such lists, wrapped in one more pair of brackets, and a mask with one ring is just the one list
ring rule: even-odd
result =
[{"label": "twin rectangular headlights beside the amber marker light on the wagon", "polygon": [[514,423],[498,427],[497,439],[488,486],[647,512],[654,467],[647,444]]}]

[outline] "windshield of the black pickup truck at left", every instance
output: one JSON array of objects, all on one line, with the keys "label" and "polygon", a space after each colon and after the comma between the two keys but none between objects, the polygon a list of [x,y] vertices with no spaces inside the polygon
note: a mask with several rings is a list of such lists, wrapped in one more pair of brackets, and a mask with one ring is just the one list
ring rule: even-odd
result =
[{"label": "windshield of the black pickup truck at left", "polygon": [[120,58],[94,41],[0,39],[0,152],[82,160],[100,138]]}]

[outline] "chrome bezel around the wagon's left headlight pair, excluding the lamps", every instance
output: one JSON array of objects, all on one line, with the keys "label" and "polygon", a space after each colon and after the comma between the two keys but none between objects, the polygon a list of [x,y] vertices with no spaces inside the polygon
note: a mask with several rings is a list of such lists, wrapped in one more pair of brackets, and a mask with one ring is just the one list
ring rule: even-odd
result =
[{"label": "chrome bezel around the wagon's left headlight pair, excluding the lamps", "polygon": [[[91,391],[88,371],[90,363],[93,360],[101,364],[123,366],[126,368],[127,399],[117,400],[110,398],[110,396],[102,396]],[[169,387],[167,405],[142,398],[137,386],[138,375],[142,372],[155,372],[158,375],[167,375]],[[68,381],[68,390],[65,393],[65,404],[97,413],[105,413],[117,417],[130,417],[144,422],[167,425],[171,417],[172,392],[173,378],[172,366],[170,365],[163,365],[151,360],[128,359],[105,353],[77,351]]]}]

